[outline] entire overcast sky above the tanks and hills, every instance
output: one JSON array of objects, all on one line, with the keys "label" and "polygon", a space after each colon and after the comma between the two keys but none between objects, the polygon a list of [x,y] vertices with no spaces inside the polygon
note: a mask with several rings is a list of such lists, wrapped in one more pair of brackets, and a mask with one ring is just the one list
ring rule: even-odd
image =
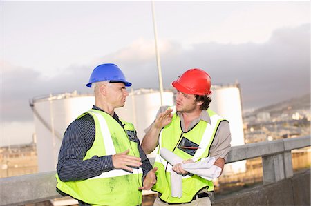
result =
[{"label": "entire overcast sky above the tanks and hills", "polygon": [[[244,109],[310,92],[310,1],[155,1],[164,88],[189,68],[241,84]],[[0,146],[31,141],[29,99],[91,92],[116,63],[157,88],[151,1],[1,1]],[[19,132],[12,132],[18,128]]]}]

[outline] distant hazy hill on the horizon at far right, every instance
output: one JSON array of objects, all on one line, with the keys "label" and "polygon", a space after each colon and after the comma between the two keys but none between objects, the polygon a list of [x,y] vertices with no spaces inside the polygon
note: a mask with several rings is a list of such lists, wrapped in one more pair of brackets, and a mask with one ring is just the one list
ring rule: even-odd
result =
[{"label": "distant hazy hill on the horizon at far right", "polygon": [[260,112],[270,112],[270,114],[276,114],[285,110],[310,110],[310,93],[274,105],[261,107],[252,113],[258,114]]}]

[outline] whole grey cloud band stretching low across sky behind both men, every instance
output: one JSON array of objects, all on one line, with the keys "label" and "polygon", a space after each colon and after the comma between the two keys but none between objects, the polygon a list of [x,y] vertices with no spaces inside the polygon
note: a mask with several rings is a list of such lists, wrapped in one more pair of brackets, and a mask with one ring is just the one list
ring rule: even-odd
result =
[{"label": "whole grey cloud band stretching low across sky behind both men", "polygon": [[[243,107],[261,107],[310,92],[310,25],[276,30],[266,43],[178,43],[160,52],[164,88],[189,68],[205,69],[215,84],[241,84]],[[134,48],[135,49],[135,48]],[[122,51],[119,51],[122,52]],[[137,88],[157,88],[156,56],[102,59],[116,63]],[[117,57],[118,56],[118,57]],[[104,61],[106,62],[106,61]],[[49,93],[91,92],[85,84],[94,65],[72,65],[46,79],[30,68],[6,68],[1,79],[2,121],[29,121],[29,99]],[[17,72],[18,71],[18,72]]]}]

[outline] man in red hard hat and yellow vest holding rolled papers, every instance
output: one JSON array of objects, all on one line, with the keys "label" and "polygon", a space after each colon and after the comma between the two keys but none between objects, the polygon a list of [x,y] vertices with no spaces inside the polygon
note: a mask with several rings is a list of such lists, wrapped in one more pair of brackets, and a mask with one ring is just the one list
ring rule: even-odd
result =
[{"label": "man in red hard hat and yellow vest holding rolled papers", "polygon": [[209,109],[207,72],[187,70],[172,85],[176,105],[160,107],[142,141],[146,154],[158,146],[154,205],[211,205],[212,180],[220,176],[230,150],[229,123]]}]

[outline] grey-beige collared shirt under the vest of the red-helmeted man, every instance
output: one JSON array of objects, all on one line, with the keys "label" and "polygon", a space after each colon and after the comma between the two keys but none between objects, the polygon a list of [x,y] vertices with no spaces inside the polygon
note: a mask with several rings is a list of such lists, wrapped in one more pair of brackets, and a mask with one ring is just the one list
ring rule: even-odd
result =
[{"label": "grey-beige collared shirt under the vest of the red-helmeted man", "polygon": [[[157,116],[160,113],[167,110],[167,108],[169,108],[169,106],[160,107],[160,109],[158,110]],[[188,127],[188,130],[186,130],[185,129],[185,121],[183,119],[182,113],[177,112],[177,115],[180,118],[181,127],[182,127],[181,129],[183,132],[187,132],[187,131],[191,130],[201,120],[205,121],[207,123],[211,123],[211,119],[210,119],[207,111],[202,110],[198,119],[194,119],[194,121],[191,121],[191,123]],[[144,130],[144,132],[148,132],[150,127],[151,127],[151,125],[146,130]],[[209,149],[209,155],[214,156],[216,159],[223,158],[226,160],[228,153],[230,151],[230,148],[231,148],[230,143],[231,143],[231,133],[230,133],[230,129],[229,129],[229,123],[228,123],[228,121],[222,121],[218,126],[217,132],[215,134],[214,141],[213,141],[213,143],[211,143],[211,147]]]}]

